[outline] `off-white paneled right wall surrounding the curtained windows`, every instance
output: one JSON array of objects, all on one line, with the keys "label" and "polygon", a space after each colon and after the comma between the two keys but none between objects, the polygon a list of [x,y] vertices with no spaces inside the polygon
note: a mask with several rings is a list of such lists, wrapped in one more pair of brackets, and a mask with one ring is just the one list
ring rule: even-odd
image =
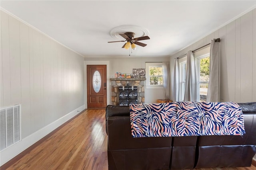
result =
[{"label": "off-white paneled right wall surrounding the curtained windows", "polygon": [[[220,38],[220,101],[256,102],[256,9],[170,57],[174,58]],[[171,93],[173,84],[171,84]],[[172,96],[173,94],[171,94]]]}]

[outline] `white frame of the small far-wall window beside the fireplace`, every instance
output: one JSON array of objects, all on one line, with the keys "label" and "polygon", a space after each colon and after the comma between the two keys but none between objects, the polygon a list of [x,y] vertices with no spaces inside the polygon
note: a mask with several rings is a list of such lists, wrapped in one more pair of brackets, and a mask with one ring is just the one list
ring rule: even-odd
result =
[{"label": "white frame of the small far-wall window beside the fireplace", "polygon": [[[150,84],[150,75],[149,75],[150,67],[162,67],[163,68],[163,63],[162,62],[146,63],[146,88],[163,88],[164,85],[154,85],[154,84],[151,85]],[[164,72],[162,73],[162,77],[164,78],[163,74],[164,74]]]}]

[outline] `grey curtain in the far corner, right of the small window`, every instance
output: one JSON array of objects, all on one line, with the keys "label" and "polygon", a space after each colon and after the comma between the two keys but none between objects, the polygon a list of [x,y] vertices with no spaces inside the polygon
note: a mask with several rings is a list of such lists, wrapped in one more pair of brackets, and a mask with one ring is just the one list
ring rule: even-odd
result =
[{"label": "grey curtain in the far corner, right of the small window", "polygon": [[170,62],[163,62],[164,97],[170,100]]}]

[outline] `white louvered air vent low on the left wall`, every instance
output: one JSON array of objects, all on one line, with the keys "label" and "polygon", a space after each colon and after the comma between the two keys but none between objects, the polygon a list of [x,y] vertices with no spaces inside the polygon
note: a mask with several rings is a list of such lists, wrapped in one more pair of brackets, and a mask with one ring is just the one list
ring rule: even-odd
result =
[{"label": "white louvered air vent low on the left wall", "polygon": [[0,108],[0,150],[20,141],[20,105]]}]

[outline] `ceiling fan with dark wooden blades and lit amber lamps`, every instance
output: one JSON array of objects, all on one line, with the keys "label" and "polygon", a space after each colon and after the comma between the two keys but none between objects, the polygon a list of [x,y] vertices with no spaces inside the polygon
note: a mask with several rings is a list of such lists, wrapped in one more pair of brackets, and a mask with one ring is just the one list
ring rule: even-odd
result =
[{"label": "ceiling fan with dark wooden blades and lit amber lamps", "polygon": [[[142,47],[145,47],[146,44],[144,43],[141,43],[141,42],[138,42],[140,40],[145,40],[145,39],[150,39],[150,37],[148,36],[143,36],[143,37],[138,37],[138,38],[134,38],[134,35],[135,33],[133,32],[126,32],[124,34],[119,34],[121,35],[122,37],[124,37],[124,39],[126,40],[123,40],[123,41],[109,41],[108,43],[116,43],[116,42],[125,42],[127,41],[122,48],[125,48],[125,49],[129,49],[130,46],[132,47],[132,49],[136,49],[136,45],[139,45],[139,46],[142,46]],[[135,45],[136,44],[136,45]]]}]

